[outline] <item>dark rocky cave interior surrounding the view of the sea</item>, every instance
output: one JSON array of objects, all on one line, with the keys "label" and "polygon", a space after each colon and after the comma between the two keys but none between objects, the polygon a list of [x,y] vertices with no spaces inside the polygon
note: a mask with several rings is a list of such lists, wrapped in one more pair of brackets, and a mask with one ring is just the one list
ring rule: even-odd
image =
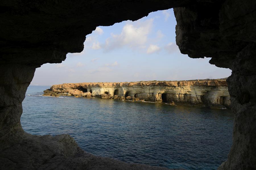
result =
[{"label": "dark rocky cave interior surrounding the view of the sea", "polygon": [[[67,134],[37,136],[20,124],[36,68],[79,53],[97,26],[174,8],[176,44],[191,58],[230,68],[233,145],[218,170],[256,169],[256,1],[3,1],[0,46],[0,169],[160,169],[87,154]],[[128,96],[129,94],[125,94]],[[61,165],[61,166],[58,166]]]}]

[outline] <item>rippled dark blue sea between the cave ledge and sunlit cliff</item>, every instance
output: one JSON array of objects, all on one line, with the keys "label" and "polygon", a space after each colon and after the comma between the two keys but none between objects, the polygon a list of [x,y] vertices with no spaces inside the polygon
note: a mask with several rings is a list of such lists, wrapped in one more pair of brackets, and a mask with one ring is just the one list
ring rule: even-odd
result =
[{"label": "rippled dark blue sea between the cave ledge and sunlit cliff", "polygon": [[75,97],[29,86],[21,124],[35,135],[70,134],[87,152],[128,163],[216,169],[232,145],[229,109]]}]

